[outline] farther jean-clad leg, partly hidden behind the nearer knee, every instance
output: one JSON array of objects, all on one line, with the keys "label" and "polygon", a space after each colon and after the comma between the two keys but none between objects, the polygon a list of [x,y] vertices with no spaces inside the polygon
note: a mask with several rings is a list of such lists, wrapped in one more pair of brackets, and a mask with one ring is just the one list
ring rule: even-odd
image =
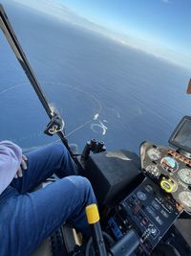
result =
[{"label": "farther jean-clad leg, partly hidden behind the nearer knee", "polygon": [[53,173],[60,177],[77,174],[74,160],[62,144],[41,147],[26,155],[28,169],[23,171],[23,177],[14,178],[11,182],[11,186],[19,193],[31,192]]}]

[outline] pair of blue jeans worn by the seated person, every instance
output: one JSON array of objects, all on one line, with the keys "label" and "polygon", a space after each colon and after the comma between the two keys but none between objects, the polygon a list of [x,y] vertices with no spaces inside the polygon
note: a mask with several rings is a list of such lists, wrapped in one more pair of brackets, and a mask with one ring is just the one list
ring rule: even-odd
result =
[{"label": "pair of blue jeans worn by the seated person", "polygon": [[[28,170],[0,195],[0,255],[31,255],[35,247],[63,222],[90,232],[85,206],[96,202],[90,182],[76,176],[76,166],[62,145],[31,151]],[[61,179],[32,192],[55,173]]]}]

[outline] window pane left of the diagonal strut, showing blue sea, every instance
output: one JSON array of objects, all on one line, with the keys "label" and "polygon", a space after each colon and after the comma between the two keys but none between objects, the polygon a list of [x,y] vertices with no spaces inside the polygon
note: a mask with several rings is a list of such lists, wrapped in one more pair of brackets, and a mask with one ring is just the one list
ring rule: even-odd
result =
[{"label": "window pane left of the diagonal strut, showing blue sea", "polygon": [[52,143],[43,134],[49,118],[2,32],[0,48],[0,140],[11,140],[27,151]]}]

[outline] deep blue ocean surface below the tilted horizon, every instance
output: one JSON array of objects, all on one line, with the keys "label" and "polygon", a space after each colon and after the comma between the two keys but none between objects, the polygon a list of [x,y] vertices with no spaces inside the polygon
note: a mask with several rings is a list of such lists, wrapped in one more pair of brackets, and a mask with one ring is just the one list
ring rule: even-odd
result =
[{"label": "deep blue ocean surface below the tilted horizon", "polygon": [[[24,7],[7,6],[13,29],[50,104],[66,123],[70,144],[138,152],[144,140],[167,145],[183,115],[190,73],[103,35]],[[0,140],[25,149],[53,143],[32,85],[0,33]]]}]

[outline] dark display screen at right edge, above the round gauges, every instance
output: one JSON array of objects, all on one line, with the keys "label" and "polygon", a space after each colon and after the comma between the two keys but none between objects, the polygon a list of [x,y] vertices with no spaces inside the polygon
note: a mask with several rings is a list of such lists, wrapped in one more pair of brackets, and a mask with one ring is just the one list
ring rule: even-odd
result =
[{"label": "dark display screen at right edge, above the round gauges", "polygon": [[191,117],[182,118],[169,143],[179,147],[180,150],[191,152]]}]

